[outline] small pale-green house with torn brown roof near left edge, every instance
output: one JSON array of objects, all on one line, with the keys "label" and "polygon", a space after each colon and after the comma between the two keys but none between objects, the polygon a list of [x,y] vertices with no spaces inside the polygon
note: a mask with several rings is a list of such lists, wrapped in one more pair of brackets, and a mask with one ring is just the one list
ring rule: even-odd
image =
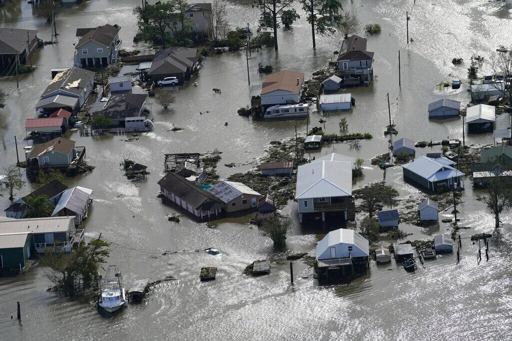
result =
[{"label": "small pale-green house with torn brown roof near left edge", "polygon": [[67,168],[78,156],[75,141],[56,138],[27,149],[25,157],[28,168]]}]

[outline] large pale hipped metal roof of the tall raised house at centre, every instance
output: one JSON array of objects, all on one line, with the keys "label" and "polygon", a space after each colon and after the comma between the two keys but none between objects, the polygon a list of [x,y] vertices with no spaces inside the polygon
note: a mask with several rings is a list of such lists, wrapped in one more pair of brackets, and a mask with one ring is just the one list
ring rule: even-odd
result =
[{"label": "large pale hipped metal roof of the tall raised house at centre", "polygon": [[295,199],[352,195],[352,164],[321,161],[297,169]]}]

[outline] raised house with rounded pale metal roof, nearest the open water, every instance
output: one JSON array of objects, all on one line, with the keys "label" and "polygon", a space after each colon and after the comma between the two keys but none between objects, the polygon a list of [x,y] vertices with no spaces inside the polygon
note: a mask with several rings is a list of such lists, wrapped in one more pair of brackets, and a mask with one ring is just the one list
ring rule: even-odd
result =
[{"label": "raised house with rounded pale metal roof, nearest the open water", "polygon": [[342,276],[366,271],[369,266],[368,240],[350,229],[329,232],[316,245],[318,276],[329,277],[329,270],[340,269]]}]

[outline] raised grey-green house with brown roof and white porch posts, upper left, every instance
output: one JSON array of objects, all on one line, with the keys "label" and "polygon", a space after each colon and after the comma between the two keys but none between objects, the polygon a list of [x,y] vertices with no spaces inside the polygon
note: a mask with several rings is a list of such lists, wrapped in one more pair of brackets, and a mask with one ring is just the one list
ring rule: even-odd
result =
[{"label": "raised grey-green house with brown roof and white porch posts, upper left", "polygon": [[[87,30],[87,32],[86,32]],[[122,40],[120,28],[105,24],[93,29],[80,29],[78,43],[75,45],[74,66],[101,67],[117,63]]]}]

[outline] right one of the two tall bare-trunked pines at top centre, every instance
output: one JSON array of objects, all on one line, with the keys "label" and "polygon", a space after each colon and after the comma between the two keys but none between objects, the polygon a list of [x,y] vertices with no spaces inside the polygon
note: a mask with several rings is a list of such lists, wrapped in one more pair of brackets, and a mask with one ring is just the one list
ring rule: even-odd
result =
[{"label": "right one of the two tall bare-trunked pines at top centre", "polygon": [[302,8],[307,13],[307,20],[311,25],[313,49],[316,48],[315,32],[327,34],[336,32],[335,26],[339,24],[343,11],[338,0],[300,0]]}]

